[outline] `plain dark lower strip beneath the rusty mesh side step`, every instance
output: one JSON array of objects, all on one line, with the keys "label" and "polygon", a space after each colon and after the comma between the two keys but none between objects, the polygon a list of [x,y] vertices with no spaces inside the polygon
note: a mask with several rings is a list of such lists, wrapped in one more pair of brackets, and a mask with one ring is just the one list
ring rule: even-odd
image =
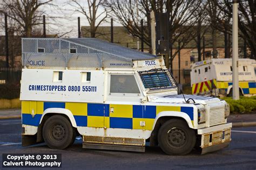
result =
[{"label": "plain dark lower strip beneath the rusty mesh side step", "polygon": [[95,149],[95,150],[116,150],[116,151],[145,152],[145,146],[83,143],[83,148]]}]

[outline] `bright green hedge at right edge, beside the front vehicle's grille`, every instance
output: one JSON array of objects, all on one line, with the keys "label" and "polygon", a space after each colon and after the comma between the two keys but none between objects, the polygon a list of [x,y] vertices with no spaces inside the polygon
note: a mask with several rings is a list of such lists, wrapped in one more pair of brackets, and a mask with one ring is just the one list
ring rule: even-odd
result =
[{"label": "bright green hedge at right edge, beside the front vehicle's grille", "polygon": [[252,97],[243,97],[240,96],[240,99],[235,101],[232,97],[223,98],[228,104],[230,104],[230,113],[231,114],[242,114],[248,113],[256,110],[256,96]]}]

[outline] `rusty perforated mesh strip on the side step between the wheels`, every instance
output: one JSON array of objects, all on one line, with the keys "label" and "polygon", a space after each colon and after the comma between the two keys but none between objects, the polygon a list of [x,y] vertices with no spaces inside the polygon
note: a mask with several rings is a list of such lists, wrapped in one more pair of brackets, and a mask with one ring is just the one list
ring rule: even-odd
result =
[{"label": "rusty perforated mesh strip on the side step between the wheels", "polygon": [[145,139],[119,138],[105,136],[84,136],[85,143],[145,146]]}]

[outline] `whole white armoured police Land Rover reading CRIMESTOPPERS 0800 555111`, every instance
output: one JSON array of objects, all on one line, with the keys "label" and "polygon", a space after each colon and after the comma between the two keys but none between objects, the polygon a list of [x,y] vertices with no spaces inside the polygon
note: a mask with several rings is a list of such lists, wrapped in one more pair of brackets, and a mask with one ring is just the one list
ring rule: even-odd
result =
[{"label": "whole white armoured police Land Rover reading CRIMESTOPPERS 0800 555111", "polygon": [[102,40],[22,39],[22,145],[167,154],[229,145],[228,104],[178,95],[164,60]]}]

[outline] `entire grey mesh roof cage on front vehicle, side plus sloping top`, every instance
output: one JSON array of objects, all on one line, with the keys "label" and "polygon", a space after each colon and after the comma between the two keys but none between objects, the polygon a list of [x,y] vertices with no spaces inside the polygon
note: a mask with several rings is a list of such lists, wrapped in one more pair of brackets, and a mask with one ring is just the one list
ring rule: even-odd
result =
[{"label": "entire grey mesh roof cage on front vehicle, side plus sloping top", "polygon": [[132,68],[133,61],[157,58],[96,38],[22,38],[22,55],[26,68],[63,69]]}]

